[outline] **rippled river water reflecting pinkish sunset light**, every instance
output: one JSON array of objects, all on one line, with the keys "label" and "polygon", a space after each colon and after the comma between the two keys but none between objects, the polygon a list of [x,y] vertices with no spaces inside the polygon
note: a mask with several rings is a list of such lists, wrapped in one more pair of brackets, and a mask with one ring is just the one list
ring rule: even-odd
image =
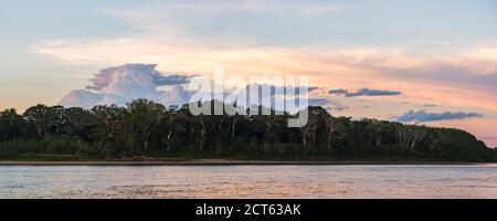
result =
[{"label": "rippled river water reflecting pinkish sunset light", "polygon": [[497,198],[497,165],[0,166],[0,198]]}]

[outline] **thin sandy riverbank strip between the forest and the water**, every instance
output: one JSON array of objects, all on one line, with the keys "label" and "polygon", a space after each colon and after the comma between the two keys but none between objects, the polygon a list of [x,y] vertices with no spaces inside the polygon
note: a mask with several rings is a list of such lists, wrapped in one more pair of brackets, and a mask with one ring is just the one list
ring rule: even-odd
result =
[{"label": "thin sandy riverbank strip between the forest and the water", "polygon": [[0,160],[0,166],[275,166],[275,165],[476,165],[484,162],[448,161],[277,161],[230,159],[171,159],[171,160],[77,160],[77,161],[18,161]]}]

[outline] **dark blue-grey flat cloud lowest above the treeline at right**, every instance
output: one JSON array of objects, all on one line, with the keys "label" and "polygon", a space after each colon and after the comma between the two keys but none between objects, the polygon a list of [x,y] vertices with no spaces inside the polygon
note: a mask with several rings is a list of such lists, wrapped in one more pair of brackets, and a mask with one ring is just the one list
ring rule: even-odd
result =
[{"label": "dark blue-grey flat cloud lowest above the treeline at right", "polygon": [[464,112],[426,113],[424,109],[417,112],[411,109],[403,115],[395,117],[394,120],[400,123],[425,123],[474,117],[483,117],[483,115],[478,113]]}]

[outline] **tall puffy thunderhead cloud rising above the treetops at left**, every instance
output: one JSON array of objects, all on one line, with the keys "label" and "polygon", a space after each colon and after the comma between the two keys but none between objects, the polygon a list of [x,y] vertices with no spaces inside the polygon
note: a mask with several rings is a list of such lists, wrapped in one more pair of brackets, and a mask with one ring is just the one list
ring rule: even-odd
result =
[{"label": "tall puffy thunderhead cloud rising above the treetops at left", "polygon": [[[119,106],[137,99],[147,98],[166,106],[188,102],[189,93],[181,84],[190,76],[163,75],[156,71],[156,64],[125,64],[101,70],[91,80],[86,90],[72,91],[60,104],[89,108],[99,104]],[[159,86],[171,86],[170,91],[160,91]]]}]

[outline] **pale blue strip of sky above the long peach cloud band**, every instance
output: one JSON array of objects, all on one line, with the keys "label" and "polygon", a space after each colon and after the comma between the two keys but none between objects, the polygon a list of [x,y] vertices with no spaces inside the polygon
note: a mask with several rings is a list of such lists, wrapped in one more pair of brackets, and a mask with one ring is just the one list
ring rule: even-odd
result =
[{"label": "pale blue strip of sky above the long peach cloud band", "polygon": [[[119,18],[103,13],[103,10],[146,9],[148,6],[157,4],[160,7],[157,7],[156,13],[160,14],[160,11],[163,11],[158,21],[188,25],[186,32],[189,34],[250,35],[256,39],[257,43],[272,45],[327,42],[356,46],[422,40],[470,43],[497,35],[495,0],[256,1],[260,3],[253,3],[254,7],[247,7],[248,10],[233,10],[231,8],[234,7],[230,6],[224,12],[218,13],[202,11],[200,7],[199,10],[175,11],[170,6],[209,4],[215,8],[215,3],[230,1],[183,1],[188,3],[177,1],[166,4],[159,2],[2,1],[0,7],[0,28],[4,40],[2,43],[7,40],[10,45],[24,45],[54,38],[134,34],[135,27]],[[277,10],[278,8],[281,10]]]}]

